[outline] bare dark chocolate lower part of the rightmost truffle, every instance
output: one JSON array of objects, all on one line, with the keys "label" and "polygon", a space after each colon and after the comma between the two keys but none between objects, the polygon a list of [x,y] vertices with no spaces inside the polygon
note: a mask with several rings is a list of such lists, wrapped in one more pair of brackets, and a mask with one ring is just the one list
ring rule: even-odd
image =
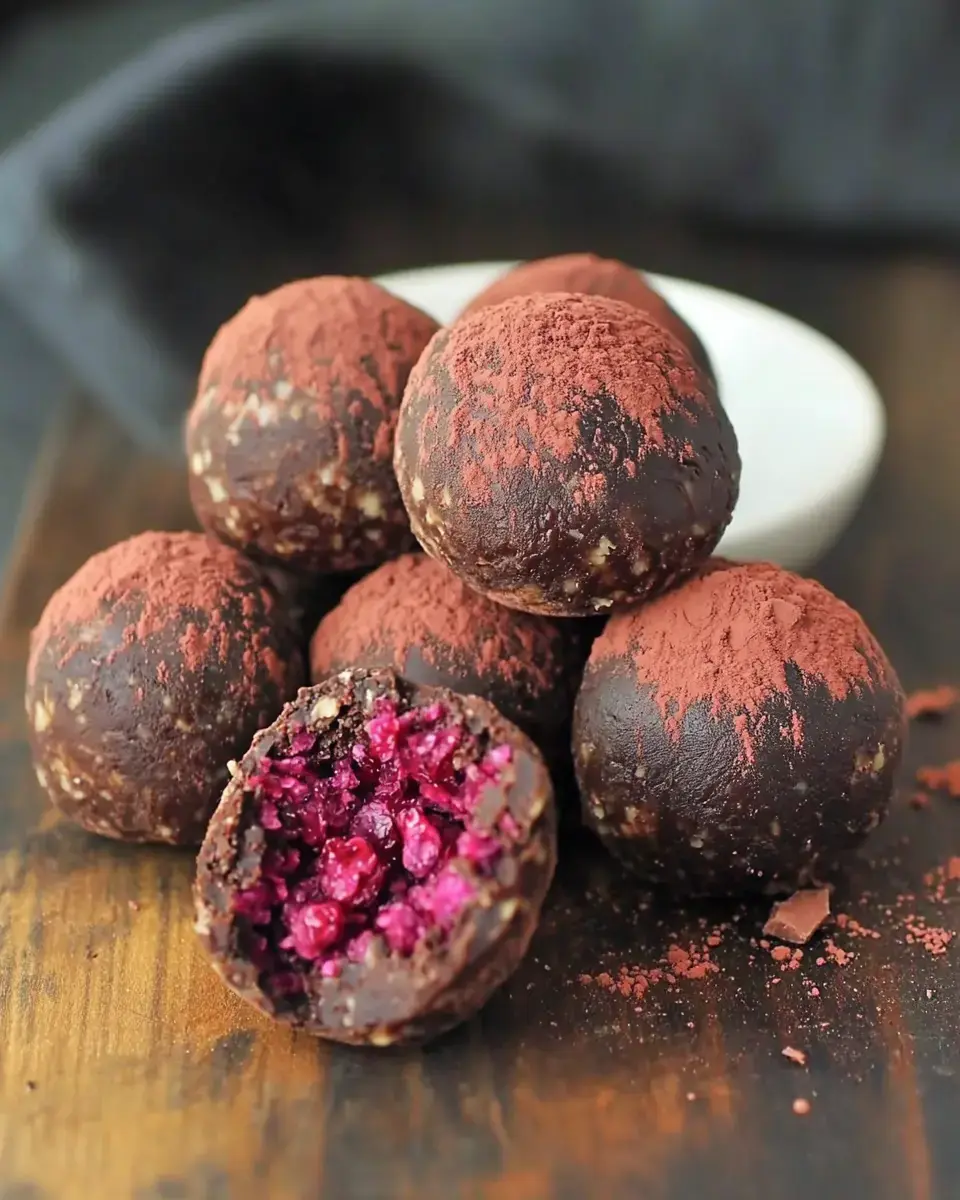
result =
[{"label": "bare dark chocolate lower part of the rightmost truffle", "polygon": [[[746,762],[736,714],[694,704],[671,737],[629,661],[588,664],[574,756],[583,818],[607,848],[684,894],[775,894],[842,870],[887,812],[902,695],[875,680],[838,701],[792,664],[786,673],[790,692],[766,700]],[[799,746],[781,733],[794,713]]]}]

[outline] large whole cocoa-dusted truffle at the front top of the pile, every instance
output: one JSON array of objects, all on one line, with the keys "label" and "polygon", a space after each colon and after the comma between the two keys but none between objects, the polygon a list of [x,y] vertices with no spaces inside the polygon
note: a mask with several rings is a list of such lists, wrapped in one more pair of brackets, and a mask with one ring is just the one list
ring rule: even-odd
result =
[{"label": "large whole cocoa-dusted truffle at the front top of the pile", "polygon": [[414,533],[474,590],[587,616],[665,590],[739,490],[713,384],[654,320],[602,296],[517,296],[431,341],[396,469]]}]

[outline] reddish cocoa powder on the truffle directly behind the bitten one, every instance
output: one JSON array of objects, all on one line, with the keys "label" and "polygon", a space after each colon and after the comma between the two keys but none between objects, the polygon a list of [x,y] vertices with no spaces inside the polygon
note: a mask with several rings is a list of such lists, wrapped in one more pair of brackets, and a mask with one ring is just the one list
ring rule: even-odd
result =
[{"label": "reddish cocoa powder on the truffle directly behind the bitten one", "polygon": [[396,653],[400,668],[416,648],[431,665],[458,660],[479,678],[522,677],[548,692],[557,682],[560,641],[547,618],[478,595],[426,554],[403,554],[355,583],[328,613],[311,643],[311,661],[360,662],[380,647]]}]

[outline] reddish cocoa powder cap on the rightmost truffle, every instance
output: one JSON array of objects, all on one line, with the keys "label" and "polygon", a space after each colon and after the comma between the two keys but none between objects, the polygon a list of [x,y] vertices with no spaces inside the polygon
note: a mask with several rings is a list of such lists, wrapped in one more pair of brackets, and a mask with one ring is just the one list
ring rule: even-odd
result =
[{"label": "reddish cocoa powder cap on the rightmost truffle", "polygon": [[[893,673],[859,614],[820,583],[769,563],[720,559],[676,592],[612,617],[593,658],[629,658],[674,736],[696,703],[715,716],[745,714],[738,732],[748,757],[764,700],[790,691],[787,664],[834,700]],[[785,733],[803,744],[799,720]]]}]

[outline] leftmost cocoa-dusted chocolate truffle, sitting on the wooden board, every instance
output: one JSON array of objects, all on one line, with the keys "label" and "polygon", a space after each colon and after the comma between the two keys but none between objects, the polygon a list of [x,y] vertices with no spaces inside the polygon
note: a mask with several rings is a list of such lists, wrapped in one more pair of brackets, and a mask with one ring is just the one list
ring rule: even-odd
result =
[{"label": "leftmost cocoa-dusted chocolate truffle, sitting on the wooden board", "polygon": [[92,833],[197,845],[227,762],[302,679],[257,568],[202,534],[140,534],[95,554],[34,630],[37,779]]}]

